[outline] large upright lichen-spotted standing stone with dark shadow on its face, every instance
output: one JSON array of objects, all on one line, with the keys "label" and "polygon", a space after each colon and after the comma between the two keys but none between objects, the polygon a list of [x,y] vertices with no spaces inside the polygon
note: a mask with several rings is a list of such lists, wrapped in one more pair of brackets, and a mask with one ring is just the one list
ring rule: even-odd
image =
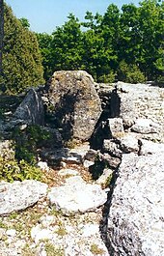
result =
[{"label": "large upright lichen-spotted standing stone with dark shadow on its face", "polygon": [[56,71],[49,83],[48,99],[57,127],[67,139],[91,137],[101,113],[94,79],[86,71]]}]

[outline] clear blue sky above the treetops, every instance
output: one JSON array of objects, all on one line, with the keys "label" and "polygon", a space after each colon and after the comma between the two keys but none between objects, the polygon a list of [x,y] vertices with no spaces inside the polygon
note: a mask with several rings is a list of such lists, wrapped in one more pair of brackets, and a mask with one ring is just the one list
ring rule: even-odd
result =
[{"label": "clear blue sky above the treetops", "polygon": [[31,30],[49,34],[56,26],[63,25],[70,13],[82,21],[86,11],[104,14],[111,3],[121,8],[123,4],[137,5],[138,2],[139,0],[6,0],[16,17],[26,17],[29,20]]}]

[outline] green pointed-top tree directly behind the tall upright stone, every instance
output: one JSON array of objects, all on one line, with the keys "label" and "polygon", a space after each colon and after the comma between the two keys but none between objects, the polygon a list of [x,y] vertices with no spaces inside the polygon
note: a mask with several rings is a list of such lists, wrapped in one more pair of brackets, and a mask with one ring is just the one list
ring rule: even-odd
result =
[{"label": "green pointed-top tree directly behind the tall upright stone", "polygon": [[81,67],[81,51],[84,50],[80,22],[73,14],[62,27],[52,33],[52,69],[79,70]]}]

